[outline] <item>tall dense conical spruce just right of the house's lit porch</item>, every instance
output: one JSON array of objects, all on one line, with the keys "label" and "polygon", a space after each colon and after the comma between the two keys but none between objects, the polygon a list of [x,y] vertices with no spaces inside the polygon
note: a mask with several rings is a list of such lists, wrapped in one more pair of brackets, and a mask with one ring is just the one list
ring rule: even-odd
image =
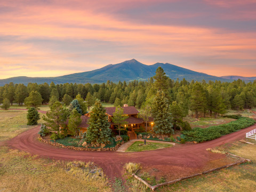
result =
[{"label": "tall dense conical spruce just right of the house's lit porch", "polygon": [[157,91],[152,104],[152,115],[154,117],[155,126],[153,130],[155,133],[174,133],[172,129],[172,116],[168,99],[165,97],[163,91]]}]

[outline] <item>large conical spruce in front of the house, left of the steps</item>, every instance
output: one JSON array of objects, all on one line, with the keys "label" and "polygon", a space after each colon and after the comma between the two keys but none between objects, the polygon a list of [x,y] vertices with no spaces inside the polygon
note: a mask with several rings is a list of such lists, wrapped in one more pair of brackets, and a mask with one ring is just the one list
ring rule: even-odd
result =
[{"label": "large conical spruce in front of the house, left of the steps", "polygon": [[89,142],[106,143],[110,139],[111,130],[106,109],[100,100],[96,100],[88,120],[89,127],[86,131],[86,140]]}]

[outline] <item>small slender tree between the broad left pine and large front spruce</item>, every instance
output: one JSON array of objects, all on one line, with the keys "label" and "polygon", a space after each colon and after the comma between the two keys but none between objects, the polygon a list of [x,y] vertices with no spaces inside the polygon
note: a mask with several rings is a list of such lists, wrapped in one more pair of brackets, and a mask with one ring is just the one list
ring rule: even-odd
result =
[{"label": "small slender tree between the broad left pine and large front spruce", "polygon": [[70,133],[74,136],[78,136],[79,134],[79,128],[78,125],[80,125],[82,122],[81,115],[77,112],[76,109],[73,109],[71,111],[71,115],[69,116],[68,120],[68,130]]}]

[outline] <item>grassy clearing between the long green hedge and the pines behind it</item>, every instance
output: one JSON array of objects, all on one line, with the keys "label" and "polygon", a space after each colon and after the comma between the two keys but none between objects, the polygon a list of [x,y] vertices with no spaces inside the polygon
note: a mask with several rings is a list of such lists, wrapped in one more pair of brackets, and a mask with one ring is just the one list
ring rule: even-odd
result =
[{"label": "grassy clearing between the long green hedge and the pines behind it", "polygon": [[200,121],[191,122],[190,126],[194,127],[201,127],[206,128],[213,125],[221,125],[226,124],[231,121],[236,121],[236,119],[227,118],[227,117],[219,117],[219,118],[199,118]]}]

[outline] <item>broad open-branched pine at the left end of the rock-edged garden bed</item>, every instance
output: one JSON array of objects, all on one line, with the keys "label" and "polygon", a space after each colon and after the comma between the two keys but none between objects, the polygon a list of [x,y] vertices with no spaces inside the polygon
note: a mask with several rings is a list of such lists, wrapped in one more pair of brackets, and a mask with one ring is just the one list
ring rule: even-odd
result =
[{"label": "broad open-branched pine at the left end of the rock-edged garden bed", "polygon": [[43,120],[46,122],[45,125],[49,127],[49,130],[52,132],[57,132],[58,136],[65,135],[66,130],[66,121],[69,116],[69,110],[63,108],[62,104],[58,101],[53,103],[51,106],[51,111],[47,112],[43,116]]}]

